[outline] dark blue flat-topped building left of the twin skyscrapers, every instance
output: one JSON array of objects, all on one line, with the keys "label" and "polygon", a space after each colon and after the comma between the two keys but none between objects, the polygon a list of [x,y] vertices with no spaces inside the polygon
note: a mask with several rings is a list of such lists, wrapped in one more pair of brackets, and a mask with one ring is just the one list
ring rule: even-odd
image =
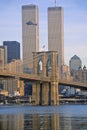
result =
[{"label": "dark blue flat-topped building left of the twin skyscrapers", "polygon": [[4,41],[3,46],[7,46],[7,63],[13,59],[20,59],[20,43],[17,41]]}]

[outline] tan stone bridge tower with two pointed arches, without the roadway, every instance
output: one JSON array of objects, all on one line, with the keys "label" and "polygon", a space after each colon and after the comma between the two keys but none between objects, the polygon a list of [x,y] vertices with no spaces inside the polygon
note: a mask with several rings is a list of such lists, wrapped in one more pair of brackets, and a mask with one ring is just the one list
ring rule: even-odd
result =
[{"label": "tan stone bridge tower with two pointed arches, without the roadway", "polygon": [[[34,105],[58,105],[58,54],[56,51],[33,52],[33,73],[40,82],[33,83],[32,102]],[[50,82],[43,82],[45,77]]]}]

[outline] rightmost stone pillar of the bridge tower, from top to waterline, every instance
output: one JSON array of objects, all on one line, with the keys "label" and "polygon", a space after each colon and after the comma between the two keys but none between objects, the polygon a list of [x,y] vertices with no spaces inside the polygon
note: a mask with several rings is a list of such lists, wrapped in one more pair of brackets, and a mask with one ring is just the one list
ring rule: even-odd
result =
[{"label": "rightmost stone pillar of the bridge tower, from top to waterline", "polygon": [[53,52],[51,55],[51,98],[50,105],[59,105],[59,93],[58,93],[58,55],[56,52]]}]

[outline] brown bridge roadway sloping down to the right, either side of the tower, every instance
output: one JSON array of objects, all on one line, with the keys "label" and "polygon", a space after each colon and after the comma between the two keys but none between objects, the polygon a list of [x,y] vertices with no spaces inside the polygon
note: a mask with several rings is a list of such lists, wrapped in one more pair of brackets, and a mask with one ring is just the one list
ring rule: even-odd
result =
[{"label": "brown bridge roadway sloping down to the right, either side of the tower", "polygon": [[[27,74],[27,73],[14,73],[10,71],[2,71],[0,70],[1,78],[18,78],[24,81],[42,81],[42,82],[51,82],[50,77],[41,77],[35,74]],[[82,82],[74,82],[71,80],[59,79],[59,85],[72,86],[76,88],[84,88],[87,89],[87,83]]]}]

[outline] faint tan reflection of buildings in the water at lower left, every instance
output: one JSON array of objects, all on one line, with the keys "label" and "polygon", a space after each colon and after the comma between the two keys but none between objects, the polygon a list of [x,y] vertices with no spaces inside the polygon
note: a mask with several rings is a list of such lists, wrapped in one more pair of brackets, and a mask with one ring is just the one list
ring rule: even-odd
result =
[{"label": "faint tan reflection of buildings in the water at lower left", "polygon": [[0,115],[0,130],[23,130],[23,115]]}]

